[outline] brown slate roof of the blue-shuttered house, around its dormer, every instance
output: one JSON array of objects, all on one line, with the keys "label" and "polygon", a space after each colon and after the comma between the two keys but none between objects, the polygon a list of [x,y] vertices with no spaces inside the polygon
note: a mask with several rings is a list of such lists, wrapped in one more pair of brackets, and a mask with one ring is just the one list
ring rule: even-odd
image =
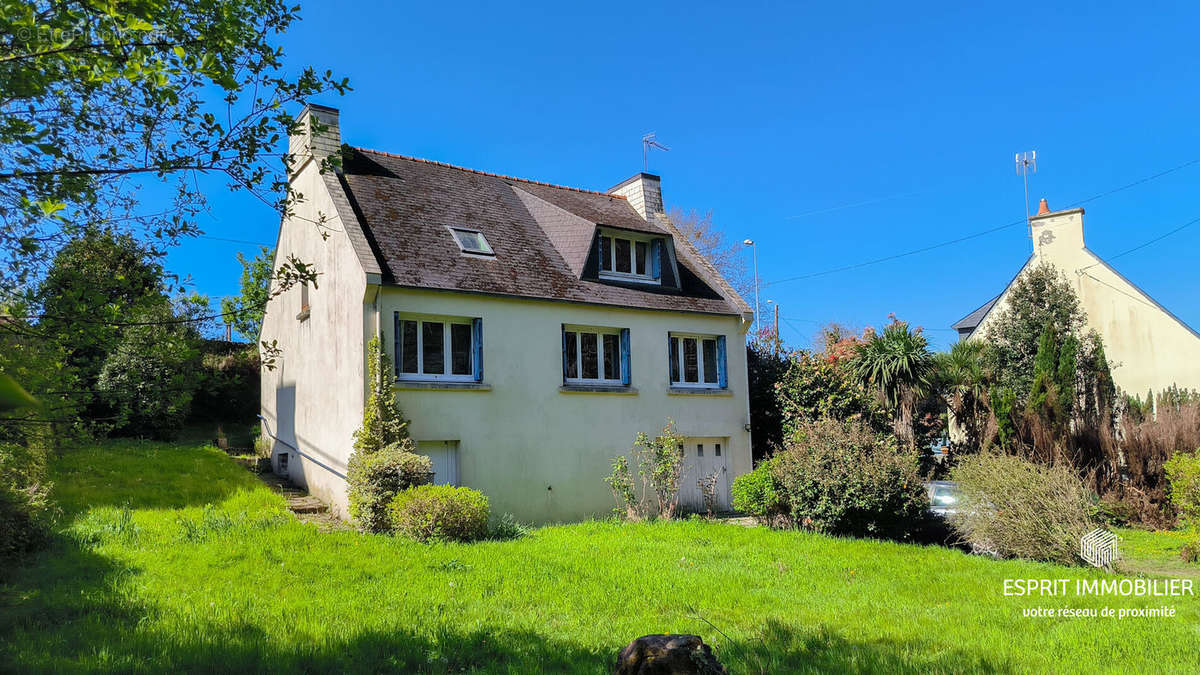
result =
[{"label": "brown slate roof of the blue-shuttered house, around its dormer", "polygon": [[[377,265],[385,283],[652,310],[746,309],[679,241],[679,288],[589,279],[596,226],[672,235],[623,197],[358,148],[344,151],[338,183],[370,247],[364,267]],[[463,255],[450,226],[482,232],[494,258]]]}]

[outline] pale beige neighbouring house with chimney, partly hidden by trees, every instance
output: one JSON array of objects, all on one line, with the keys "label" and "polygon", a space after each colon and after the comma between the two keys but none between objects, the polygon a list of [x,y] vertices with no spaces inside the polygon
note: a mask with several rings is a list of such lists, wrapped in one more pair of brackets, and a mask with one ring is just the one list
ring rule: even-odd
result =
[{"label": "pale beige neighbouring house with chimney, partly hidden by trees", "polygon": [[[1200,334],[1087,249],[1084,209],[1050,211],[1042,199],[1030,226],[1033,256],[1021,271],[1048,262],[1067,276],[1087,312],[1087,325],[1104,339],[1117,387],[1142,396],[1172,384],[1200,389]],[[1006,288],[955,323],[959,335],[983,335],[1007,294]]]}]

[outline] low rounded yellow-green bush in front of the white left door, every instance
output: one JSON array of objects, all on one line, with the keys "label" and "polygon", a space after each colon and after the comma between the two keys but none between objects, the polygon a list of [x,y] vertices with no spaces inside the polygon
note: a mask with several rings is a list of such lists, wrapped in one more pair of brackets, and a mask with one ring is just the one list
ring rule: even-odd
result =
[{"label": "low rounded yellow-green bush in front of the white left door", "polygon": [[474,542],[487,536],[487,497],[452,485],[419,485],[392,500],[392,532],[418,542]]}]

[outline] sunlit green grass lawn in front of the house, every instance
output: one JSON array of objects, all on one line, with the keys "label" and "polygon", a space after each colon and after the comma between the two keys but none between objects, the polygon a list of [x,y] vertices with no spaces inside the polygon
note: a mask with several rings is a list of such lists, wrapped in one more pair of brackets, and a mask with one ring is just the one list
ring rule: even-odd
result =
[{"label": "sunlit green grass lawn in front of the house", "polygon": [[[1195,598],[1015,598],[1097,572],[703,521],[422,545],[318,532],[222,453],[54,462],[64,526],[0,585],[0,671],[604,673],[697,633],[731,673],[1195,671]],[[1175,605],[1174,619],[1026,619]]]}]

